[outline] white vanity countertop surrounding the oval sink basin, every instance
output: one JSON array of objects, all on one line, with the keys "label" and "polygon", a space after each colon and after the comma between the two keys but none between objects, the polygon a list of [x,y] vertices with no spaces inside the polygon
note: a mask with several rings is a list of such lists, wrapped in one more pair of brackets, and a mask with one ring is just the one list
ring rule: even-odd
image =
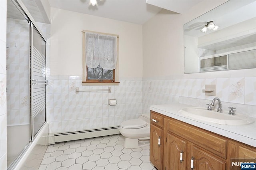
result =
[{"label": "white vanity countertop surrounding the oval sink basin", "polygon": [[256,118],[251,118],[254,120],[254,123],[249,125],[219,125],[186,118],[184,115],[178,113],[178,111],[184,107],[194,106],[182,104],[153,105],[150,106],[150,110],[256,147]]}]

